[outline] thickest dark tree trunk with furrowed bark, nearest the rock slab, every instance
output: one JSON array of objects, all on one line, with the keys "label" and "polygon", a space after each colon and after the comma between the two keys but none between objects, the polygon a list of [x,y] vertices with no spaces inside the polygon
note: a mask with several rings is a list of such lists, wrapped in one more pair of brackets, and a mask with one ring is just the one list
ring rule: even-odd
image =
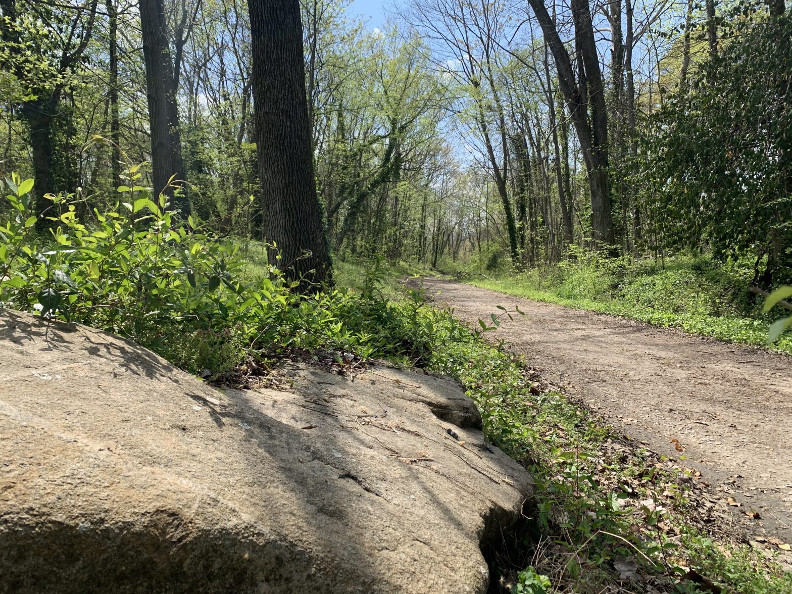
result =
[{"label": "thickest dark tree trunk with furrowed bark, nearest the rock slab", "polygon": [[253,108],[264,231],[277,245],[270,263],[300,281],[329,280],[330,262],[316,194],[299,0],[248,0]]}]

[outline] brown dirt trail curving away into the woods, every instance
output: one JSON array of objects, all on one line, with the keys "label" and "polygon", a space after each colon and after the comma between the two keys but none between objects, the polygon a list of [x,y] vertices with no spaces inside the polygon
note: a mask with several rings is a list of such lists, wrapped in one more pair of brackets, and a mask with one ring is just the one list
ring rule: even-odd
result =
[{"label": "brown dirt trail curving away into the woods", "polygon": [[[472,322],[517,304],[526,315],[493,338],[627,435],[685,456],[748,538],[792,543],[792,357],[466,284],[424,286]],[[761,519],[748,518],[751,510]]]}]

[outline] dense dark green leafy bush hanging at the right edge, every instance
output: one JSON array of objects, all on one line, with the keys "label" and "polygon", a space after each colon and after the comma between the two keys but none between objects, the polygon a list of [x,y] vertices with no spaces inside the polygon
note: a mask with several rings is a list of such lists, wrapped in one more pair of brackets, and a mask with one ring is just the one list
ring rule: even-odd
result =
[{"label": "dense dark green leafy bush hanging at the right edge", "polygon": [[764,284],[780,284],[792,274],[792,18],[726,17],[725,30],[691,86],[645,122],[634,162],[644,231],[669,248],[765,257]]}]

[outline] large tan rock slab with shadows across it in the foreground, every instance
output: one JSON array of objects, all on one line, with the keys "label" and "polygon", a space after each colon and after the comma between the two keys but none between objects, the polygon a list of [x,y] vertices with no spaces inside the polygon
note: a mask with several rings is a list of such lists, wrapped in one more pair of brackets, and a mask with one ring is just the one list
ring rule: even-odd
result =
[{"label": "large tan rock slab with shadows across it in the foreground", "polygon": [[221,393],[0,311],[0,592],[484,592],[531,479],[459,385],[288,372]]}]

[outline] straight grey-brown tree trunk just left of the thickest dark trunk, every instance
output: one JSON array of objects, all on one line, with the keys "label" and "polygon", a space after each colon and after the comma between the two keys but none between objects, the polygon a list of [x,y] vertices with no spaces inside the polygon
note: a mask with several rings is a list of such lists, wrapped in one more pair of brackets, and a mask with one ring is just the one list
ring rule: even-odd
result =
[{"label": "straight grey-brown tree trunk just left of the thickest dark trunk", "polygon": [[140,0],[140,28],[151,134],[151,177],[155,194],[165,194],[182,215],[190,208],[183,192],[174,192],[170,183],[185,179],[181,162],[173,60],[170,57],[166,15],[162,0]]}]

